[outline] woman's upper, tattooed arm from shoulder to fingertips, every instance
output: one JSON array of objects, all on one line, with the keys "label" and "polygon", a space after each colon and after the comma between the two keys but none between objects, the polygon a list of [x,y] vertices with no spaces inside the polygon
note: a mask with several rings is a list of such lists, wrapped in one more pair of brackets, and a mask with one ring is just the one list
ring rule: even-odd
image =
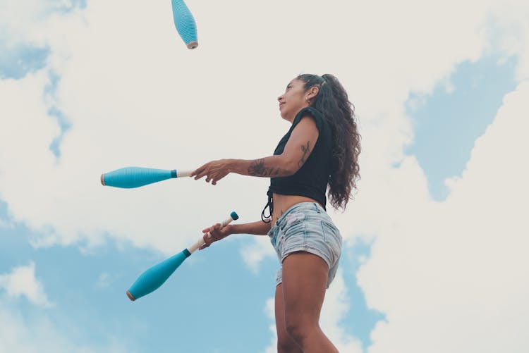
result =
[{"label": "woman's upper, tattooed arm from shoulder to fingertips", "polygon": [[213,185],[229,173],[250,175],[265,178],[277,178],[293,175],[307,161],[319,132],[312,118],[305,117],[300,120],[291,133],[285,149],[278,156],[267,156],[261,159],[220,159],[211,161],[197,168],[191,176],[195,180],[206,177],[206,182],[211,180]]}]

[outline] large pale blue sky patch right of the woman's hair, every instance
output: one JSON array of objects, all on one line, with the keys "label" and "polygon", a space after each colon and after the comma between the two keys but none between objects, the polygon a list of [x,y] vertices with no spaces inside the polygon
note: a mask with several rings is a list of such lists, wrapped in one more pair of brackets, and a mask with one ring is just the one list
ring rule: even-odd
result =
[{"label": "large pale blue sky patch right of the woman's hair", "polygon": [[428,96],[410,94],[406,108],[415,140],[405,153],[417,157],[437,201],[448,196],[444,179],[461,175],[475,140],[494,120],[505,94],[516,88],[516,60],[499,62],[485,56],[461,63],[450,78],[451,89],[438,85]]}]

